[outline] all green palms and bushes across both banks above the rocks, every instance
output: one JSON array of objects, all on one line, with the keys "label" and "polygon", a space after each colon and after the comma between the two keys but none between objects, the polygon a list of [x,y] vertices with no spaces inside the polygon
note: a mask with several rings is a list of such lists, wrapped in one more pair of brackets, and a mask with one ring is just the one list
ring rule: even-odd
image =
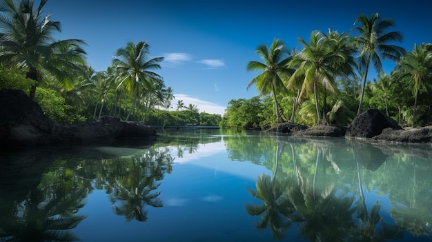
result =
[{"label": "all green palms and bushes across both banks above the rocks", "polygon": [[[353,33],[311,32],[299,38],[301,50],[288,50],[281,39],[258,46],[260,61],[247,70],[262,71],[255,85],[259,97],[233,99],[226,114],[199,112],[196,105],[172,107],[173,90],[157,70],[163,57],[150,57],[146,41],[126,43],[112,65],[95,71],[86,63],[84,40],[55,40],[58,21],[44,16],[41,0],[0,3],[0,89],[23,90],[59,123],[95,120],[102,115],[149,125],[221,125],[262,128],[286,121],[305,125],[349,125],[356,115],[378,108],[401,125],[432,123],[432,45],[397,46],[400,32],[391,19],[361,14]],[[395,61],[390,75],[382,61]],[[374,68],[379,77],[368,81]]]}]

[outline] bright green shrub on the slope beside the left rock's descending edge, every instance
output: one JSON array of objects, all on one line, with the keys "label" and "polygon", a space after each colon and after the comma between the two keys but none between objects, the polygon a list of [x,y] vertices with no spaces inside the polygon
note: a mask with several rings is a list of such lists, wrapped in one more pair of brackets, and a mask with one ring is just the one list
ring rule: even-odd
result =
[{"label": "bright green shrub on the slope beside the left rock's descending edge", "polygon": [[70,124],[86,121],[79,115],[77,108],[67,105],[63,97],[53,90],[38,88],[35,101],[41,106],[43,114],[57,123]]}]

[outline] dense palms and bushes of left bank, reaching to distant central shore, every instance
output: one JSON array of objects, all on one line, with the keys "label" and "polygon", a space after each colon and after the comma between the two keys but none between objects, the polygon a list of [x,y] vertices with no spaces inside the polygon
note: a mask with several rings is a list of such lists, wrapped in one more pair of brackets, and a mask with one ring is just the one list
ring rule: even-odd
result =
[{"label": "dense palms and bushes of left bank, reaching to distant central shore", "polygon": [[23,90],[63,124],[111,115],[148,125],[219,125],[219,114],[199,112],[196,105],[166,111],[173,90],[155,72],[164,58],[150,58],[146,41],[126,43],[105,71],[93,70],[84,40],[54,39],[60,23],[42,14],[46,3],[1,1],[0,89]]}]

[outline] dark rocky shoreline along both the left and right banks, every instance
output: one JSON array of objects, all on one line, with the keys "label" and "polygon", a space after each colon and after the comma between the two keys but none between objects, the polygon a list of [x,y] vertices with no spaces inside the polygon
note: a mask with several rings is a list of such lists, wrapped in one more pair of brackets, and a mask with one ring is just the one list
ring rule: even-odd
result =
[{"label": "dark rocky shoreline along both the left and right banks", "polygon": [[[370,109],[355,117],[349,127],[298,123],[279,123],[266,132],[280,132],[297,137],[346,137],[373,142],[430,143],[432,126],[404,129],[397,122]],[[0,90],[1,147],[37,145],[79,145],[113,143],[126,139],[153,140],[157,132],[135,121],[101,117],[97,121],[60,125],[46,117],[35,101],[18,90]]]}]

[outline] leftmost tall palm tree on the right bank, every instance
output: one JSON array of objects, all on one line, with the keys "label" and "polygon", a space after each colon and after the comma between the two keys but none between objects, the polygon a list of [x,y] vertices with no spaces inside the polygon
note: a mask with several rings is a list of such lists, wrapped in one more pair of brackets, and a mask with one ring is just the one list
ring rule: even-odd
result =
[{"label": "leftmost tall palm tree on the right bank", "polygon": [[282,40],[275,39],[271,44],[270,49],[268,49],[265,44],[262,44],[257,47],[255,53],[259,54],[259,57],[261,57],[264,63],[259,61],[249,61],[246,70],[262,70],[262,74],[253,78],[248,83],[246,89],[250,88],[251,85],[256,84],[257,90],[259,90],[262,96],[269,93],[273,94],[277,122],[283,123],[284,119],[282,119],[280,114],[277,94],[286,91],[282,79],[285,79],[292,73],[292,69],[288,68],[288,62],[291,60],[288,48],[286,48]]}]

